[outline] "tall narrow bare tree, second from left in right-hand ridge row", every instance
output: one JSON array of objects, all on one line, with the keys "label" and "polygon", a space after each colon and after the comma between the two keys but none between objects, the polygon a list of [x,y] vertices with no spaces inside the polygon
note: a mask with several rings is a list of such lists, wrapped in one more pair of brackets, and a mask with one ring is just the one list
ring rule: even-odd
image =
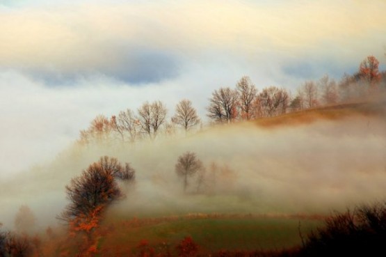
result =
[{"label": "tall narrow bare tree, second from left in right-hand ridge row", "polygon": [[244,76],[237,82],[236,90],[239,91],[241,118],[250,120],[253,117],[253,101],[256,98],[257,89],[250,78]]}]

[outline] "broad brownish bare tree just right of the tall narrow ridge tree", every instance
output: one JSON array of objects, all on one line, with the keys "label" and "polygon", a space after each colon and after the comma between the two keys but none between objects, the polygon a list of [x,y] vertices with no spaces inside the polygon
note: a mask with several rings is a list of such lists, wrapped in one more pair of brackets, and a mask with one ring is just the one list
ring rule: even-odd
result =
[{"label": "broad brownish bare tree just right of the tall narrow ridge tree", "polygon": [[259,103],[264,116],[285,114],[289,104],[289,94],[282,88],[270,86],[259,93]]}]

